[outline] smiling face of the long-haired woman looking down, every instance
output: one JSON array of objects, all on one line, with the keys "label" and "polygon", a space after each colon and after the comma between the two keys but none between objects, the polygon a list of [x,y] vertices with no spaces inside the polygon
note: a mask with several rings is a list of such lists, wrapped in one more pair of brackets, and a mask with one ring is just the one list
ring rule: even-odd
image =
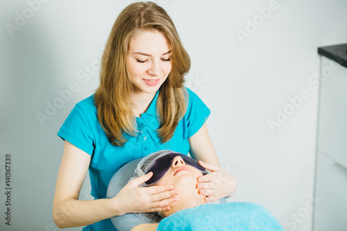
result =
[{"label": "smiling face of the long-haired woman looking down", "polygon": [[142,31],[130,39],[127,66],[135,92],[155,93],[171,71],[171,45],[159,31]]}]

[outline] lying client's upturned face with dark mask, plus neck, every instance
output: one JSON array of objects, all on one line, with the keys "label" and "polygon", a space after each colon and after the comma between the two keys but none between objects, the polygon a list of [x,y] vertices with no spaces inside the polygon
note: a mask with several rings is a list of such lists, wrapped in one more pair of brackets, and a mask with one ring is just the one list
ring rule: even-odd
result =
[{"label": "lying client's upturned face with dark mask, plus neck", "polygon": [[[155,175],[157,180],[160,173],[163,175],[154,185],[175,185],[175,189],[180,191],[178,201],[171,204],[171,210],[162,212],[164,216],[169,216],[181,209],[196,207],[205,203],[205,196],[198,194],[196,185],[198,184],[198,177],[203,176],[202,171],[206,173],[207,171],[197,164],[196,160],[187,155],[171,155],[171,157],[169,155],[162,157],[162,162],[158,158],[158,161],[153,163],[148,170],[153,170],[153,179],[155,179]],[[167,159],[166,161],[164,160],[165,158]],[[155,164],[158,165],[156,168]],[[162,173],[160,169],[164,169],[164,171],[167,169],[167,171]]]}]

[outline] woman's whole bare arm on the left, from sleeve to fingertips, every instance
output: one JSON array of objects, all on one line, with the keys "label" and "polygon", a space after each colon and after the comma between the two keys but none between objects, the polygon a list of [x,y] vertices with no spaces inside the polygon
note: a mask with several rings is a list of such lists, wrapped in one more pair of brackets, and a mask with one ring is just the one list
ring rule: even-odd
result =
[{"label": "woman's whole bare arm on the left, from sleeve to fingertips", "polygon": [[78,200],[91,156],[65,141],[53,200],[53,220],[58,228],[84,226],[128,212],[170,210],[177,195],[174,185],[139,188],[153,176],[147,173],[130,180],[113,198]]}]

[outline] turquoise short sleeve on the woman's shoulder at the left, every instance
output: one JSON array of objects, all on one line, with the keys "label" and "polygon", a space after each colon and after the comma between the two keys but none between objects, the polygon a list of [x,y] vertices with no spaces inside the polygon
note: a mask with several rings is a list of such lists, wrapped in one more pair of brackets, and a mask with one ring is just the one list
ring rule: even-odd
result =
[{"label": "turquoise short sleeve on the woman's shoulder at the left", "polygon": [[82,108],[77,104],[60,127],[57,134],[89,155],[94,152],[94,135]]}]

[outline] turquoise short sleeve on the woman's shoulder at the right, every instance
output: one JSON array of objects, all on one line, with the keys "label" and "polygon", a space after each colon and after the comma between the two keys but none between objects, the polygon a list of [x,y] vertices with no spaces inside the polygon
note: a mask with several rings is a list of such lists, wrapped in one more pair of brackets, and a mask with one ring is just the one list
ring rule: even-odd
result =
[{"label": "turquoise short sleeve on the woman's shoulder at the right", "polygon": [[211,111],[208,106],[201,101],[197,94],[187,87],[186,89],[189,94],[189,103],[185,117],[188,127],[187,137],[190,138],[203,126],[203,123],[208,119]]}]

